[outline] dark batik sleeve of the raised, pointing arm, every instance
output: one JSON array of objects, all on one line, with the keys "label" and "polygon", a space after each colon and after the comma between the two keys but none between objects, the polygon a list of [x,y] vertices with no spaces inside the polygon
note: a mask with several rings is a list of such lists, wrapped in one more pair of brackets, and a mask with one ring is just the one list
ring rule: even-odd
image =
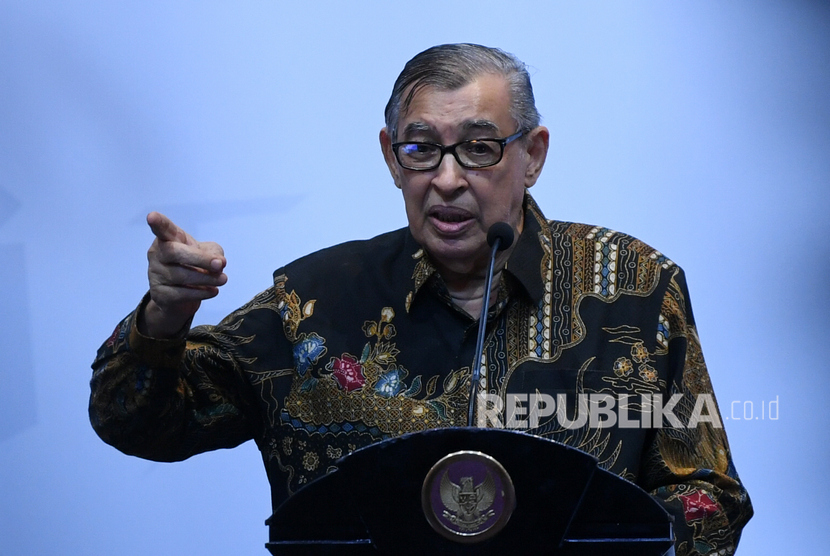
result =
[{"label": "dark batik sleeve of the raised, pointing arm", "polygon": [[115,328],[92,364],[89,416],[96,433],[120,451],[155,461],[232,448],[255,434],[251,389],[240,346],[255,335],[240,310],[216,327],[159,340],[136,319]]}]

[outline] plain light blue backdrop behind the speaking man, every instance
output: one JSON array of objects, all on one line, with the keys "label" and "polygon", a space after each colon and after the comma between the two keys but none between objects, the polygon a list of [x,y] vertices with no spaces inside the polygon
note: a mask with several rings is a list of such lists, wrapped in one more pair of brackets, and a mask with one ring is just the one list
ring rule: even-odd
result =
[{"label": "plain light blue backdrop behind the speaking man", "polygon": [[823,552],[830,6],[300,4],[0,1],[0,554],[265,554],[252,443],[159,464],[89,427],[89,364],[147,287],[144,216],[224,246],[199,322],[285,262],[405,225],[383,107],[406,60],[458,41],[530,65],[547,216],[687,271],[757,513],[740,553]]}]

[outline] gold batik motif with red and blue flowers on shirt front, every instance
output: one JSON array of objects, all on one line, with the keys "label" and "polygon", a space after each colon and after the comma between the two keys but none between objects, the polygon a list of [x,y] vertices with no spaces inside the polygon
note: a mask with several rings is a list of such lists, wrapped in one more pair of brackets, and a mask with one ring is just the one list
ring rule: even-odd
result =
[{"label": "gold batik motif with red and blue flowers on shirt front", "polygon": [[[284,405],[291,418],[307,429],[325,428],[325,432],[337,432],[332,425],[361,422],[376,427],[381,436],[463,424],[468,367],[451,372],[441,382],[440,393],[438,375],[410,377],[397,362],[391,307],[384,307],[377,321],[364,323],[367,342],[361,353],[342,353],[319,365],[327,353],[325,339],[315,333],[297,333],[299,321],[313,314],[314,302],[305,303],[300,311],[301,300],[294,291],[287,293],[284,284],[278,280],[277,305],[299,361]],[[299,359],[297,354],[301,354]]]}]

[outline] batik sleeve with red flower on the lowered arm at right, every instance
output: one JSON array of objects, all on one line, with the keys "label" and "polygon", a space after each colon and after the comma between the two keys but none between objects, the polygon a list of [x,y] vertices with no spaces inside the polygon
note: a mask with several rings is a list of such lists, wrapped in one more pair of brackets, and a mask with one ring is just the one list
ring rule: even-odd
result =
[{"label": "batik sleeve with red flower on the lowered arm at right", "polygon": [[682,426],[656,429],[641,483],[675,518],[677,556],[732,554],[752,504],[732,463],[688,299],[678,270],[660,320],[674,368],[664,404],[677,400],[672,412]]}]

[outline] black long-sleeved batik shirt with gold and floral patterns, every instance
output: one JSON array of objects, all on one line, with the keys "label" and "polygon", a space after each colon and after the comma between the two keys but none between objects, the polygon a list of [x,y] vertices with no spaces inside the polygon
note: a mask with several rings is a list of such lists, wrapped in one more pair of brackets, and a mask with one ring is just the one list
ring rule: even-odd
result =
[{"label": "black long-sleeved batik shirt with gold and floral patterns", "polygon": [[[498,291],[482,422],[576,447],[649,491],[675,516],[677,554],[734,551],[752,509],[681,269],[630,236],[547,221],[528,196]],[[301,258],[186,337],[139,333],[146,301],[93,363],[92,425],[127,454],[177,461],[254,439],[277,507],[357,448],[467,424],[478,323],[407,229]],[[614,402],[638,424],[580,422]]]}]

